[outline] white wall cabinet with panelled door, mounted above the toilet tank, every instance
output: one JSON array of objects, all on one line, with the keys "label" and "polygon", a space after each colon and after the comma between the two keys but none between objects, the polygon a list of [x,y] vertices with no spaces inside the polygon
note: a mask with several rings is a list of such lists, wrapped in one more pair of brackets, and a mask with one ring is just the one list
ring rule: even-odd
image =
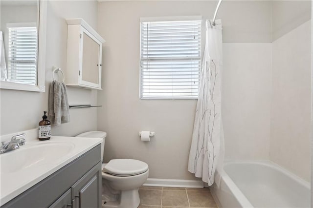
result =
[{"label": "white wall cabinet with panelled door, mounted above the toilet tank", "polygon": [[101,89],[102,43],[105,40],[83,19],[67,19],[66,84]]}]

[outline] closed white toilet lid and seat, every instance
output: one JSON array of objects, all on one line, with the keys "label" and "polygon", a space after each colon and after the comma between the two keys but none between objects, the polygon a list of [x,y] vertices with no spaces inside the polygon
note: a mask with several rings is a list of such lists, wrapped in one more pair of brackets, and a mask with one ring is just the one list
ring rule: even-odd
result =
[{"label": "closed white toilet lid and seat", "polygon": [[146,172],[148,164],[133,159],[114,159],[103,167],[103,172],[116,176],[132,176]]}]

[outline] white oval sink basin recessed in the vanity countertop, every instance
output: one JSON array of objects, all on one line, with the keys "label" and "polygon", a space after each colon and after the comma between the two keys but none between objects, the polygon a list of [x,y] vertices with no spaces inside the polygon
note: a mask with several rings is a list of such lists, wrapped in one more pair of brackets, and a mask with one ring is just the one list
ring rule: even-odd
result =
[{"label": "white oval sink basin recessed in the vanity countertop", "polygon": [[1,174],[13,173],[33,166],[56,163],[74,149],[68,142],[45,142],[21,146],[0,157]]}]

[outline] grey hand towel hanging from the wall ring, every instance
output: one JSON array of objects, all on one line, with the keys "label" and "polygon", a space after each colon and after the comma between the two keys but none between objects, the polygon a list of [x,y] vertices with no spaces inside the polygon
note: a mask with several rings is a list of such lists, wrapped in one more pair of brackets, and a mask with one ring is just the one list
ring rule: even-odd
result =
[{"label": "grey hand towel hanging from the wall ring", "polygon": [[70,121],[67,87],[63,82],[53,81],[51,83],[48,120],[55,126]]}]

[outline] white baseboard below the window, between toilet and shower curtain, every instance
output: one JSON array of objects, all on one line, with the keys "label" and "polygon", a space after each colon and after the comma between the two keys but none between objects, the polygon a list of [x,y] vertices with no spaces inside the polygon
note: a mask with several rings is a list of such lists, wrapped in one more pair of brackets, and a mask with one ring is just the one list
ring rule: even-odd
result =
[{"label": "white baseboard below the window, between toilet and shower curtain", "polygon": [[143,186],[149,187],[185,187],[185,188],[203,188],[203,182],[198,180],[177,180],[148,178]]}]

